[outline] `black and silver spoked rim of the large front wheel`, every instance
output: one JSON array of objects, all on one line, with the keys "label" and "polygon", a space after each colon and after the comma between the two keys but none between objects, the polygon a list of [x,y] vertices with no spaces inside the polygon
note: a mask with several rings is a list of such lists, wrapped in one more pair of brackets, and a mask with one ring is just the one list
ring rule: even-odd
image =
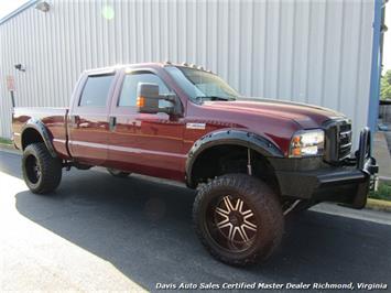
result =
[{"label": "black and silver spoked rim of the large front wheel", "polygon": [[253,246],[259,225],[240,196],[225,195],[210,203],[206,219],[209,236],[224,250],[238,253]]}]

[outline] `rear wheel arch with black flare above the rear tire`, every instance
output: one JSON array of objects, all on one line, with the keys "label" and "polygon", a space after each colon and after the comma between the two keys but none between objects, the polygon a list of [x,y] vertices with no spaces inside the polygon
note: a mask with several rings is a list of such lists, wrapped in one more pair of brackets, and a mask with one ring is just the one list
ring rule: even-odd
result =
[{"label": "rear wheel arch with black flare above the rear tire", "polygon": [[52,143],[52,134],[47,130],[47,128],[36,119],[30,119],[23,127],[22,134],[21,134],[21,146],[24,150],[29,144],[36,143],[36,142],[44,142],[48,153],[56,158],[57,154],[54,150]]}]

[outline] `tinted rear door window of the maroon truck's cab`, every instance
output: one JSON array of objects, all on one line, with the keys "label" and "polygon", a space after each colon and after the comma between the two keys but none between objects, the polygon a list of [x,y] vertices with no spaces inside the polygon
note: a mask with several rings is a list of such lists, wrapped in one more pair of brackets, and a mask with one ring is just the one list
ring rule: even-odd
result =
[{"label": "tinted rear door window of the maroon truck's cab", "polygon": [[80,107],[105,107],[113,75],[89,76],[84,86]]}]

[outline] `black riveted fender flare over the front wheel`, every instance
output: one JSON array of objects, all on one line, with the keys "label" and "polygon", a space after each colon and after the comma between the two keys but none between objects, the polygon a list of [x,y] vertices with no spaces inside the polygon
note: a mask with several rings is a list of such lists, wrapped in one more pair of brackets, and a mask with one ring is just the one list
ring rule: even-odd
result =
[{"label": "black riveted fender flare over the front wheel", "polygon": [[246,130],[217,130],[198,139],[188,151],[185,166],[187,186],[195,187],[192,172],[199,154],[209,148],[222,144],[246,146],[265,158],[284,158],[281,149],[264,137]]}]

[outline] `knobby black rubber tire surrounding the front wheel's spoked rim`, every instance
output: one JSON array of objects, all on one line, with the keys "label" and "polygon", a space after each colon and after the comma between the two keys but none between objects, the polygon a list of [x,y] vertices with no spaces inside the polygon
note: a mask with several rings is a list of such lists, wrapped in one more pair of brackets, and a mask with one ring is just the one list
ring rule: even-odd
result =
[{"label": "knobby black rubber tire surrounding the front wheel's spoked rim", "polygon": [[[241,198],[253,211],[253,220],[259,225],[251,246],[241,252],[221,247],[213,237],[213,229],[208,228],[209,206],[216,198],[226,195]],[[284,217],[276,194],[262,181],[246,174],[224,175],[202,186],[193,206],[193,224],[211,256],[231,265],[247,265],[265,260],[279,247],[284,230]]]}]

